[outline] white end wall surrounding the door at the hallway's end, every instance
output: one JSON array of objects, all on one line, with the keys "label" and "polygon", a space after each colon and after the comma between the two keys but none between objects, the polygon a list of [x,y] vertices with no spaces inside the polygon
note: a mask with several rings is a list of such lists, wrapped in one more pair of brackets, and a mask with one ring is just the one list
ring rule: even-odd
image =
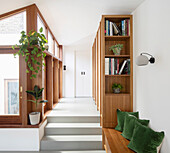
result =
[{"label": "white end wall surrounding the door at the hallway's end", "polygon": [[[94,35],[89,35],[76,43],[64,46],[64,64],[67,67],[66,71],[63,71],[63,96],[64,97],[75,97],[75,61],[76,52],[89,52],[90,57],[90,71],[92,71],[92,61],[91,61],[91,46],[93,42]],[[92,96],[92,73],[90,74],[90,96]]]}]

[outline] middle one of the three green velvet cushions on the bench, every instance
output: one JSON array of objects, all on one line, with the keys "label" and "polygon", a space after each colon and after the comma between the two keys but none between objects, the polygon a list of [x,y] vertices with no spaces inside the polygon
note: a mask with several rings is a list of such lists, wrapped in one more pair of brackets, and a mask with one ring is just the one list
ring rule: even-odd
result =
[{"label": "middle one of the three green velvet cushions on the bench", "polygon": [[136,122],[139,122],[145,126],[148,126],[149,124],[149,120],[140,120],[140,119],[137,119],[133,115],[126,114],[124,127],[123,127],[123,133],[121,134],[124,138],[131,140]]}]

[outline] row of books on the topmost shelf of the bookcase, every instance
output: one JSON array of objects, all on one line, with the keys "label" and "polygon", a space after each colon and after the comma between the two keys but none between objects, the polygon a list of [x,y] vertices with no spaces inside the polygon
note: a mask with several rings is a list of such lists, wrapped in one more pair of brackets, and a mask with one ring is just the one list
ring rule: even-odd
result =
[{"label": "row of books on the topmost shelf of the bookcase", "polygon": [[105,36],[114,35],[130,36],[130,19],[122,20],[119,25],[109,20],[105,20]]}]

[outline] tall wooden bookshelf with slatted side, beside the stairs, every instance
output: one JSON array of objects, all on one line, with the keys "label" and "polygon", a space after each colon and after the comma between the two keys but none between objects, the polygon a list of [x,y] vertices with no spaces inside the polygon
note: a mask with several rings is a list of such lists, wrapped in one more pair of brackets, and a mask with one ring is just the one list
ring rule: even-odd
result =
[{"label": "tall wooden bookshelf with slatted side, beside the stairs", "polygon": [[[130,19],[129,36],[105,36],[105,20],[119,25],[125,19]],[[123,44],[123,49],[120,55],[114,55],[109,48],[118,43]],[[94,57],[96,54],[99,56]],[[120,63],[130,59],[130,74],[105,75],[105,58],[119,59]],[[95,101],[98,100],[96,103],[100,108],[101,125],[103,128],[113,128],[117,125],[117,109],[133,111],[133,18],[131,15],[102,16],[92,47],[92,59],[93,97]],[[120,83],[123,86],[121,93],[113,93],[113,83]],[[98,84],[99,91],[96,90],[96,84]]]}]

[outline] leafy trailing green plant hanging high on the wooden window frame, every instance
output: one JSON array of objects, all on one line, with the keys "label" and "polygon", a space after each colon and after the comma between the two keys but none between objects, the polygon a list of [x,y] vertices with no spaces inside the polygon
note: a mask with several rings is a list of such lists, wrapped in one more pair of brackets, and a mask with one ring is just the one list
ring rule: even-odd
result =
[{"label": "leafy trailing green plant hanging high on the wooden window frame", "polygon": [[[19,51],[14,54],[25,57],[25,62],[28,66],[26,73],[31,73],[32,78],[36,78],[38,72],[42,69],[42,65],[45,66],[44,58],[46,54],[45,50],[48,50],[47,39],[45,35],[42,33],[43,28],[39,29],[39,32],[30,31],[26,34],[25,31],[21,32],[21,39],[19,40],[20,45],[12,46],[13,49],[15,47],[19,47]],[[40,61],[42,60],[42,65]]]}]

